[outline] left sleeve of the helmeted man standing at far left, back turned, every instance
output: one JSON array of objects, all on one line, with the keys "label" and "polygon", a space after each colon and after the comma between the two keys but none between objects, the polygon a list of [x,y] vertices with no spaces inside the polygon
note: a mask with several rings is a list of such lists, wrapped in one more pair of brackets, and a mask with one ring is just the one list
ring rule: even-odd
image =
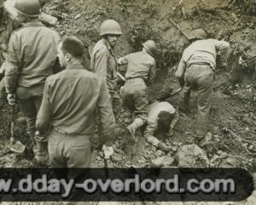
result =
[{"label": "left sleeve of the helmeted man standing at far left, back turned", "polygon": [[7,54],[7,65],[5,67],[5,88],[8,94],[14,94],[16,91],[19,71],[19,58],[17,37],[15,33],[10,37],[9,40],[9,51]]}]

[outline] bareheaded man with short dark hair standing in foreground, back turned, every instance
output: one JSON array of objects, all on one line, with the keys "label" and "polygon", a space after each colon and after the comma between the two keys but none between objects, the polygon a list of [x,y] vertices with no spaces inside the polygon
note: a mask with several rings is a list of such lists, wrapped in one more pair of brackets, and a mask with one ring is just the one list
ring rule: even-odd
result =
[{"label": "bareheaded man with short dark hair standing in foreground, back turned", "polygon": [[53,168],[90,168],[90,136],[96,125],[96,109],[102,124],[108,158],[113,153],[115,128],[108,91],[101,77],[86,71],[84,45],[77,37],[66,37],[58,46],[61,67],[66,70],[48,77],[38,112],[40,134],[49,130],[49,161]]}]

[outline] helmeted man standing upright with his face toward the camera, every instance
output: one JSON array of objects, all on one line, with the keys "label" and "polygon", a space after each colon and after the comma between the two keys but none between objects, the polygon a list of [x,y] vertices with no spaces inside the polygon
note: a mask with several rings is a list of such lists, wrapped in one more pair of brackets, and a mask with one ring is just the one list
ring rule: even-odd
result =
[{"label": "helmeted man standing upright with his face toward the camera", "polygon": [[122,104],[117,92],[118,66],[113,53],[113,48],[116,46],[120,35],[122,35],[122,31],[119,23],[115,20],[105,20],[100,31],[102,39],[96,43],[90,56],[90,69],[103,77],[115,116],[117,116]]}]

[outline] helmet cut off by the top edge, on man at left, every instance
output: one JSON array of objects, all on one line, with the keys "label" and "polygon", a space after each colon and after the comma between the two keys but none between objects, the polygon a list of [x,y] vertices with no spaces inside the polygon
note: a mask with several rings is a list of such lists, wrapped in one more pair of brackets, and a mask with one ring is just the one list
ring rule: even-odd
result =
[{"label": "helmet cut off by the top edge, on man at left", "polygon": [[38,17],[41,14],[41,3],[39,0],[16,0],[15,9],[19,14]]}]

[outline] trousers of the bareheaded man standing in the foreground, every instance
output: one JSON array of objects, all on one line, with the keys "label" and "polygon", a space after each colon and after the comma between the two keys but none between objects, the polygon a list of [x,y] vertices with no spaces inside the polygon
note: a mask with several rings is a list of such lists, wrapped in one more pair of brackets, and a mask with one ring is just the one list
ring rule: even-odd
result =
[{"label": "trousers of the bareheaded man standing in the foreground", "polygon": [[[89,135],[65,134],[52,128],[49,132],[48,151],[51,168],[61,168],[56,173],[58,178],[75,179],[75,183],[83,183],[85,179],[89,178],[89,170],[79,169],[90,168]],[[83,194],[84,192],[81,190],[73,190],[68,199],[74,202],[64,204],[88,204],[80,202]]]}]

